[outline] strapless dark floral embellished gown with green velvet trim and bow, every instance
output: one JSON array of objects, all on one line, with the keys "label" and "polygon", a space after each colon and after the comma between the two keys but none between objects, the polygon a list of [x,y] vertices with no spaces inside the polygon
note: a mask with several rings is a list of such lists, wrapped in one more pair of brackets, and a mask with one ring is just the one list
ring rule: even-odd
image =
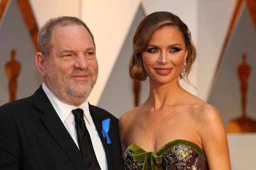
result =
[{"label": "strapless dark floral embellished gown with green velvet trim and bow", "polygon": [[156,153],[131,144],[124,153],[126,170],[208,170],[204,151],[193,142],[174,140]]}]

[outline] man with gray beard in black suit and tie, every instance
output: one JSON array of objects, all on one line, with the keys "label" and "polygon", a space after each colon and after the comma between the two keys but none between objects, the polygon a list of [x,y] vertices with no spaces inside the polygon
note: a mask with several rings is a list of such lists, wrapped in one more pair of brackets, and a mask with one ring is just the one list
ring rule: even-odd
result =
[{"label": "man with gray beard in black suit and tie", "polygon": [[[87,101],[98,77],[89,28],[76,17],[50,19],[39,31],[38,45],[43,84],[32,96],[0,107],[0,169],[124,169],[118,119]],[[82,117],[76,117],[77,108]],[[80,140],[76,126],[82,118],[90,142]],[[93,149],[86,155],[89,143]],[[95,166],[87,162],[91,155]]]}]

